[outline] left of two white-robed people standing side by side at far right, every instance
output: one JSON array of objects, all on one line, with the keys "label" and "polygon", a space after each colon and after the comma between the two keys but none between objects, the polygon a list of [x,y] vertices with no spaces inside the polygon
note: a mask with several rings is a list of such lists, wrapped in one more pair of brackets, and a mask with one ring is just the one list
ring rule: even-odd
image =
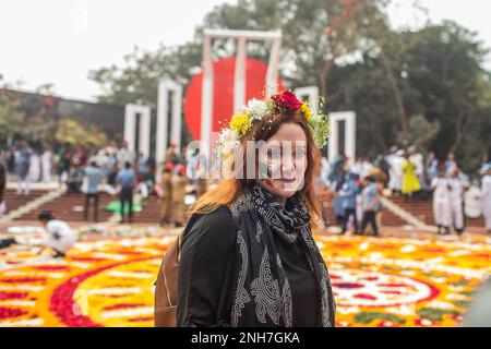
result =
[{"label": "left of two white-robed people standing side by side at far right", "polygon": [[442,233],[442,229],[444,229],[444,232],[448,234],[452,225],[452,188],[448,179],[445,178],[445,170],[442,169],[439,174],[433,178],[431,189],[433,190],[433,216],[436,227],[439,228],[438,233]]}]

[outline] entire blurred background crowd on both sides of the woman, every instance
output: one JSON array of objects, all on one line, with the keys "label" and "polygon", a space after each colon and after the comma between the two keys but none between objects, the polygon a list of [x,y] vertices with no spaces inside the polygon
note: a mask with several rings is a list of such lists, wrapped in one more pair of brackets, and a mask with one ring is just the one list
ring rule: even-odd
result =
[{"label": "entire blurred background crowd on both sides of the woman", "polygon": [[[57,149],[53,153],[47,145],[32,147],[21,140],[3,151],[1,163],[5,173],[1,174],[0,168],[0,185],[2,182],[4,185],[10,171],[17,178],[17,194],[28,195],[29,183],[49,183],[57,177],[60,183],[65,184],[68,193],[85,194],[84,219],[88,220],[92,208],[94,221],[98,220],[101,192],[119,195],[121,222],[133,221],[135,194],[142,200],[156,195],[160,201],[160,225],[180,227],[185,222],[187,195],[193,193],[199,197],[209,184],[202,176],[196,176],[200,171],[199,152],[188,151],[185,146],[179,149],[171,144],[160,166],[152,156],[130,151],[125,142],[120,146],[112,143],[95,149],[76,146],[59,146]],[[197,166],[188,166],[191,161]],[[481,180],[481,213],[487,229],[491,230],[490,166],[486,168],[486,164],[487,160],[483,161]],[[189,170],[193,173],[187,173]],[[190,179],[189,174],[197,179]],[[325,205],[321,203],[324,222],[339,225],[342,233],[352,226],[357,234],[364,233],[368,225],[373,234],[379,234],[381,196],[387,191],[391,195],[400,195],[404,201],[432,197],[439,233],[450,233],[453,228],[460,234],[466,222],[465,194],[470,186],[469,177],[463,172],[453,153],[441,161],[433,152],[423,155],[415,146],[407,149],[394,146],[374,159],[362,157],[352,161],[343,156],[331,164],[324,157],[318,177],[318,190],[334,192],[336,221],[327,221]],[[3,191],[1,195],[0,214],[5,212]]]}]

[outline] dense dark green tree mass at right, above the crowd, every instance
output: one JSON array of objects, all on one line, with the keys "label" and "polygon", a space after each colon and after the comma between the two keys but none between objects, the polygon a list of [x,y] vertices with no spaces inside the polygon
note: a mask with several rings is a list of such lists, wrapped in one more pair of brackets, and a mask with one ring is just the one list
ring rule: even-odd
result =
[{"label": "dense dark green tree mass at right, above the crowd", "polygon": [[487,50],[472,33],[451,22],[392,36],[399,49],[385,44],[386,55],[407,116],[407,133],[400,132],[398,103],[373,46],[358,61],[334,68],[331,110],[357,112],[360,155],[375,155],[392,144],[416,144],[442,158],[454,151],[468,169],[476,168],[477,155],[490,146]]}]

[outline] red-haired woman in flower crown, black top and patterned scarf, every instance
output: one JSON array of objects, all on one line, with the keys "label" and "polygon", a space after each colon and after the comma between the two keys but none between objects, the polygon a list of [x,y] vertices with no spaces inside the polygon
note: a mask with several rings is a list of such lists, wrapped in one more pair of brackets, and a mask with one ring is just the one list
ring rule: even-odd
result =
[{"label": "red-haired woman in flower crown, black top and patterned scarf", "polygon": [[193,204],[183,231],[178,326],[334,326],[330,275],[311,232],[327,134],[327,118],[289,91],[232,117],[217,152],[233,176]]}]

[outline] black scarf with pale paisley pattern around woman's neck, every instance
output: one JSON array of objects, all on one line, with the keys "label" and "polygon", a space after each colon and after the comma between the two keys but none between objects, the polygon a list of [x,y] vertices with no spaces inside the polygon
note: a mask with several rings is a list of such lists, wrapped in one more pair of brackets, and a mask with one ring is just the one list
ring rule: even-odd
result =
[{"label": "black scarf with pale paisley pattern around woman's neck", "polygon": [[334,326],[335,304],[324,260],[312,239],[310,214],[298,198],[285,206],[255,184],[231,205],[237,228],[238,282],[233,293],[230,326],[291,327],[292,299],[276,241],[302,239],[320,289],[319,324]]}]

